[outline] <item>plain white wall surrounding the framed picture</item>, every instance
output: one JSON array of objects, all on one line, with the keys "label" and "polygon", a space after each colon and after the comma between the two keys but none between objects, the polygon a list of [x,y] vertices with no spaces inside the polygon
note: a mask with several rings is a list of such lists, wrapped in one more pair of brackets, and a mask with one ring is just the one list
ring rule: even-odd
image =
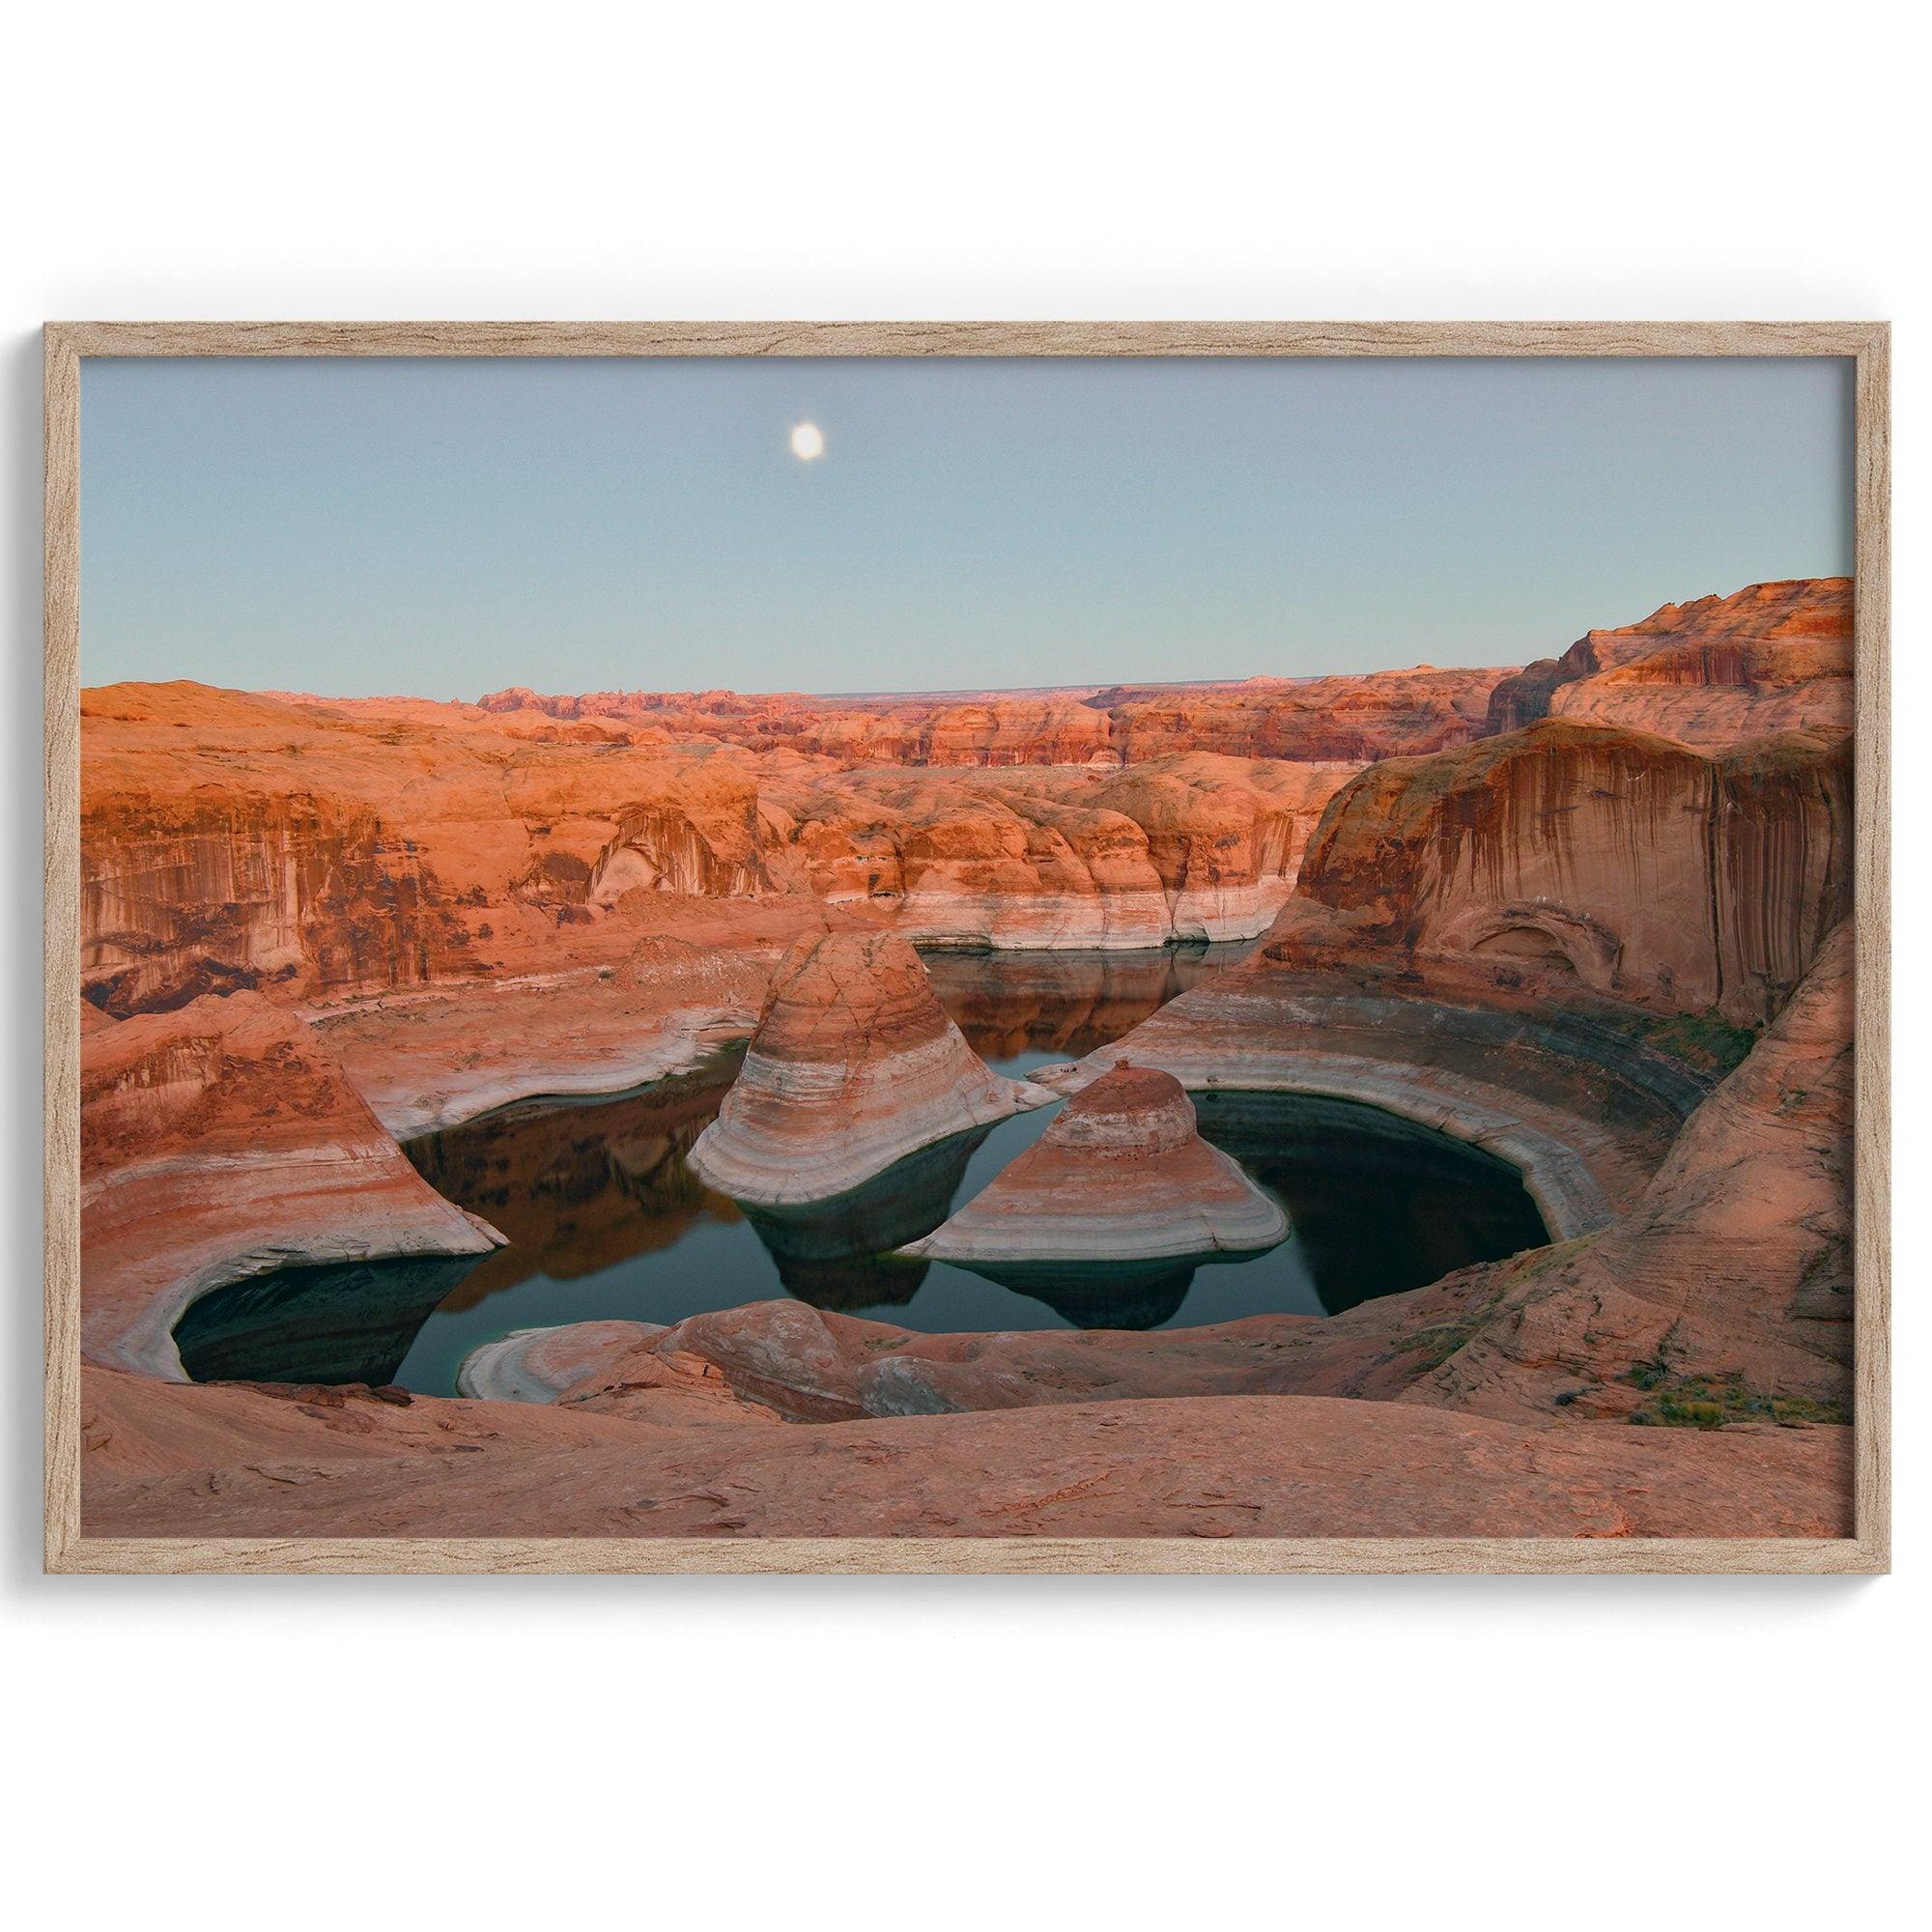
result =
[{"label": "plain white wall surrounding the framed picture", "polygon": [[[1855,1861],[1905,1874],[1920,1822],[1909,1217],[1889,1582],[37,1575],[44,317],[1889,315],[1924,956],[1924,104],[1889,8],[682,14],[8,31],[17,1922],[1899,1922]],[[1920,972],[1899,991],[1909,1211]]]}]

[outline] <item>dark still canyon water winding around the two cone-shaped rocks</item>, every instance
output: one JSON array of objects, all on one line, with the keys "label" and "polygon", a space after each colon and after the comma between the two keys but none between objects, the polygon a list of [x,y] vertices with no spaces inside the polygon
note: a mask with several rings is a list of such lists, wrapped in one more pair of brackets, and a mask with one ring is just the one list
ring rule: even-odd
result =
[{"label": "dark still canyon water winding around the two cone-shaped rocks", "polygon": [[[976,1051],[1024,1074],[1119,1039],[1246,951],[927,964]],[[1548,1238],[1517,1171],[1474,1148],[1372,1107],[1215,1092],[1196,1095],[1202,1132],[1281,1202],[1289,1240],[1238,1262],[1001,1269],[993,1281],[889,1250],[978,1194],[1057,1107],[927,1148],[821,1208],[750,1213],[684,1165],[736,1066],[726,1053],[636,1094],[522,1103],[412,1142],[425,1179],[510,1246],[475,1264],[284,1269],[222,1289],[176,1327],[187,1372],[448,1395],[464,1356],[510,1329],[676,1321],[779,1294],[929,1333],[1337,1314]]]}]

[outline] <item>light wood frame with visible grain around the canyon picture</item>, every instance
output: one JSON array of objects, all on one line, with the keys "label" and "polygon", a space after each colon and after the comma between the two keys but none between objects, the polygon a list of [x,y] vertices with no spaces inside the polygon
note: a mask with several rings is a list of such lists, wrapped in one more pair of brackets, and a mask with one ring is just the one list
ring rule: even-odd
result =
[{"label": "light wood frame with visible grain around the canyon picture", "polygon": [[[1781,1571],[1891,1549],[1886,323],[48,323],[46,1567],[50,1571]],[[1837,355],[1857,365],[1855,1534],[1818,1538],[108,1538],[81,1534],[79,491],[89,355]]]}]

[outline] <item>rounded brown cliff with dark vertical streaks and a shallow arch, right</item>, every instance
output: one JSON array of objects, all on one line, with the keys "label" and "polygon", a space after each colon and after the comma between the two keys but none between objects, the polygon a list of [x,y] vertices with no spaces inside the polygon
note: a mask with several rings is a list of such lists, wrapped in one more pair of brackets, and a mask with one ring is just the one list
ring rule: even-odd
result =
[{"label": "rounded brown cliff with dark vertical streaks and a shallow arch, right", "polygon": [[1298,898],[1418,958],[1762,1024],[1849,912],[1851,871],[1849,740],[1702,753],[1546,719],[1370,767]]}]

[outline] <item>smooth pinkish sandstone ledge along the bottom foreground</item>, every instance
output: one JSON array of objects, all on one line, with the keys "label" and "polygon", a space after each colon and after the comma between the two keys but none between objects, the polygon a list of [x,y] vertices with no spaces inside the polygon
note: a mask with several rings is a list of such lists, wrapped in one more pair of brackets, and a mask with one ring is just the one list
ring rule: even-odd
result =
[{"label": "smooth pinkish sandstone ledge along the bottom foreground", "polygon": [[104,1370],[81,1428],[102,1536],[1833,1536],[1851,1453],[1320,1397],[692,1430]]}]

